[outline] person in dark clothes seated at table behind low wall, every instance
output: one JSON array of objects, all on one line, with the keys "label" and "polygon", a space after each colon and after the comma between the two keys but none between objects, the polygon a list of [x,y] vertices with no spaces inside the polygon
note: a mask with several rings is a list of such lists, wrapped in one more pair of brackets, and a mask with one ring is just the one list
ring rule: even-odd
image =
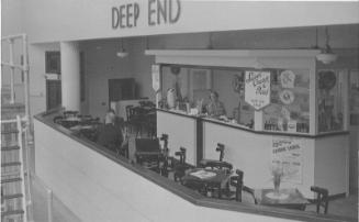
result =
[{"label": "person in dark clothes seated at table behind low wall", "polygon": [[104,120],[104,125],[99,129],[97,143],[106,148],[116,152],[121,147],[123,135],[121,127],[115,125],[115,114],[113,110],[108,111]]}]

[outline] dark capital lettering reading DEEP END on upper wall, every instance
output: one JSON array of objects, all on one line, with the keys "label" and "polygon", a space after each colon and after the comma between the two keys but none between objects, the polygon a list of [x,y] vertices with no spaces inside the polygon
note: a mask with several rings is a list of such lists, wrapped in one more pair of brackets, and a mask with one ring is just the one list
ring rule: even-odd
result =
[{"label": "dark capital lettering reading DEEP END on upper wall", "polygon": [[147,8],[137,2],[112,7],[112,29],[136,27],[138,19],[147,20],[148,26],[173,24],[181,16],[180,0],[148,0]]}]

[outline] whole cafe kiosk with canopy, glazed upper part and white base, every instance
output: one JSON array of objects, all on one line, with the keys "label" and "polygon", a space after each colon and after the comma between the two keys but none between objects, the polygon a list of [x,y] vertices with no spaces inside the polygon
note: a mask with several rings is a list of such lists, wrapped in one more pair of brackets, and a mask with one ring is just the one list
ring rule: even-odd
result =
[{"label": "whole cafe kiosk with canopy, glazed upper part and white base", "polygon": [[[216,144],[224,144],[224,160],[243,170],[244,184],[253,188],[272,188],[273,164],[279,164],[283,188],[296,188],[306,198],[314,198],[311,186],[325,187],[330,196],[347,195],[348,74],[321,69],[318,53],[147,51],[160,66],[157,134],[169,135],[170,153],[186,147],[192,165],[202,158],[217,159]],[[181,103],[164,106],[167,87],[176,87],[177,81],[181,97],[192,100],[190,109]],[[258,99],[254,85],[267,87],[268,97]],[[220,92],[226,116],[213,118],[201,113],[204,106],[198,108],[211,90]],[[238,95],[239,108],[234,106]]]}]

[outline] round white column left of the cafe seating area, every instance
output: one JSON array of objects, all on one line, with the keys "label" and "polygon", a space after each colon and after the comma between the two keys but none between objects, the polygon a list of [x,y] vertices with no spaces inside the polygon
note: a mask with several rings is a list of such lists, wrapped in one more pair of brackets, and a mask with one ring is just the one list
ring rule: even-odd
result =
[{"label": "round white column left of the cafe seating area", "polygon": [[80,111],[80,53],[77,42],[60,42],[61,99],[66,110]]}]

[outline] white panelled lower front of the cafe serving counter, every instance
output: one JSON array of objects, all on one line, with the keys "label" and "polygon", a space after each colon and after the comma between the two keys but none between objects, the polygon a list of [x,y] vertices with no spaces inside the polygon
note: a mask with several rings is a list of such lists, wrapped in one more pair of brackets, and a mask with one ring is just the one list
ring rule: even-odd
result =
[{"label": "white panelled lower front of the cafe serving counter", "polygon": [[[319,135],[259,132],[184,112],[157,110],[157,133],[169,135],[170,149],[186,147],[192,165],[202,158],[218,159],[216,144],[224,144],[224,160],[243,170],[244,182],[253,188],[271,188],[271,162],[287,158],[288,168],[293,173],[281,187],[295,187],[306,198],[314,198],[311,186],[325,187],[332,196],[348,193],[348,132]],[[295,146],[298,151],[287,149],[277,155],[278,143]]]}]

